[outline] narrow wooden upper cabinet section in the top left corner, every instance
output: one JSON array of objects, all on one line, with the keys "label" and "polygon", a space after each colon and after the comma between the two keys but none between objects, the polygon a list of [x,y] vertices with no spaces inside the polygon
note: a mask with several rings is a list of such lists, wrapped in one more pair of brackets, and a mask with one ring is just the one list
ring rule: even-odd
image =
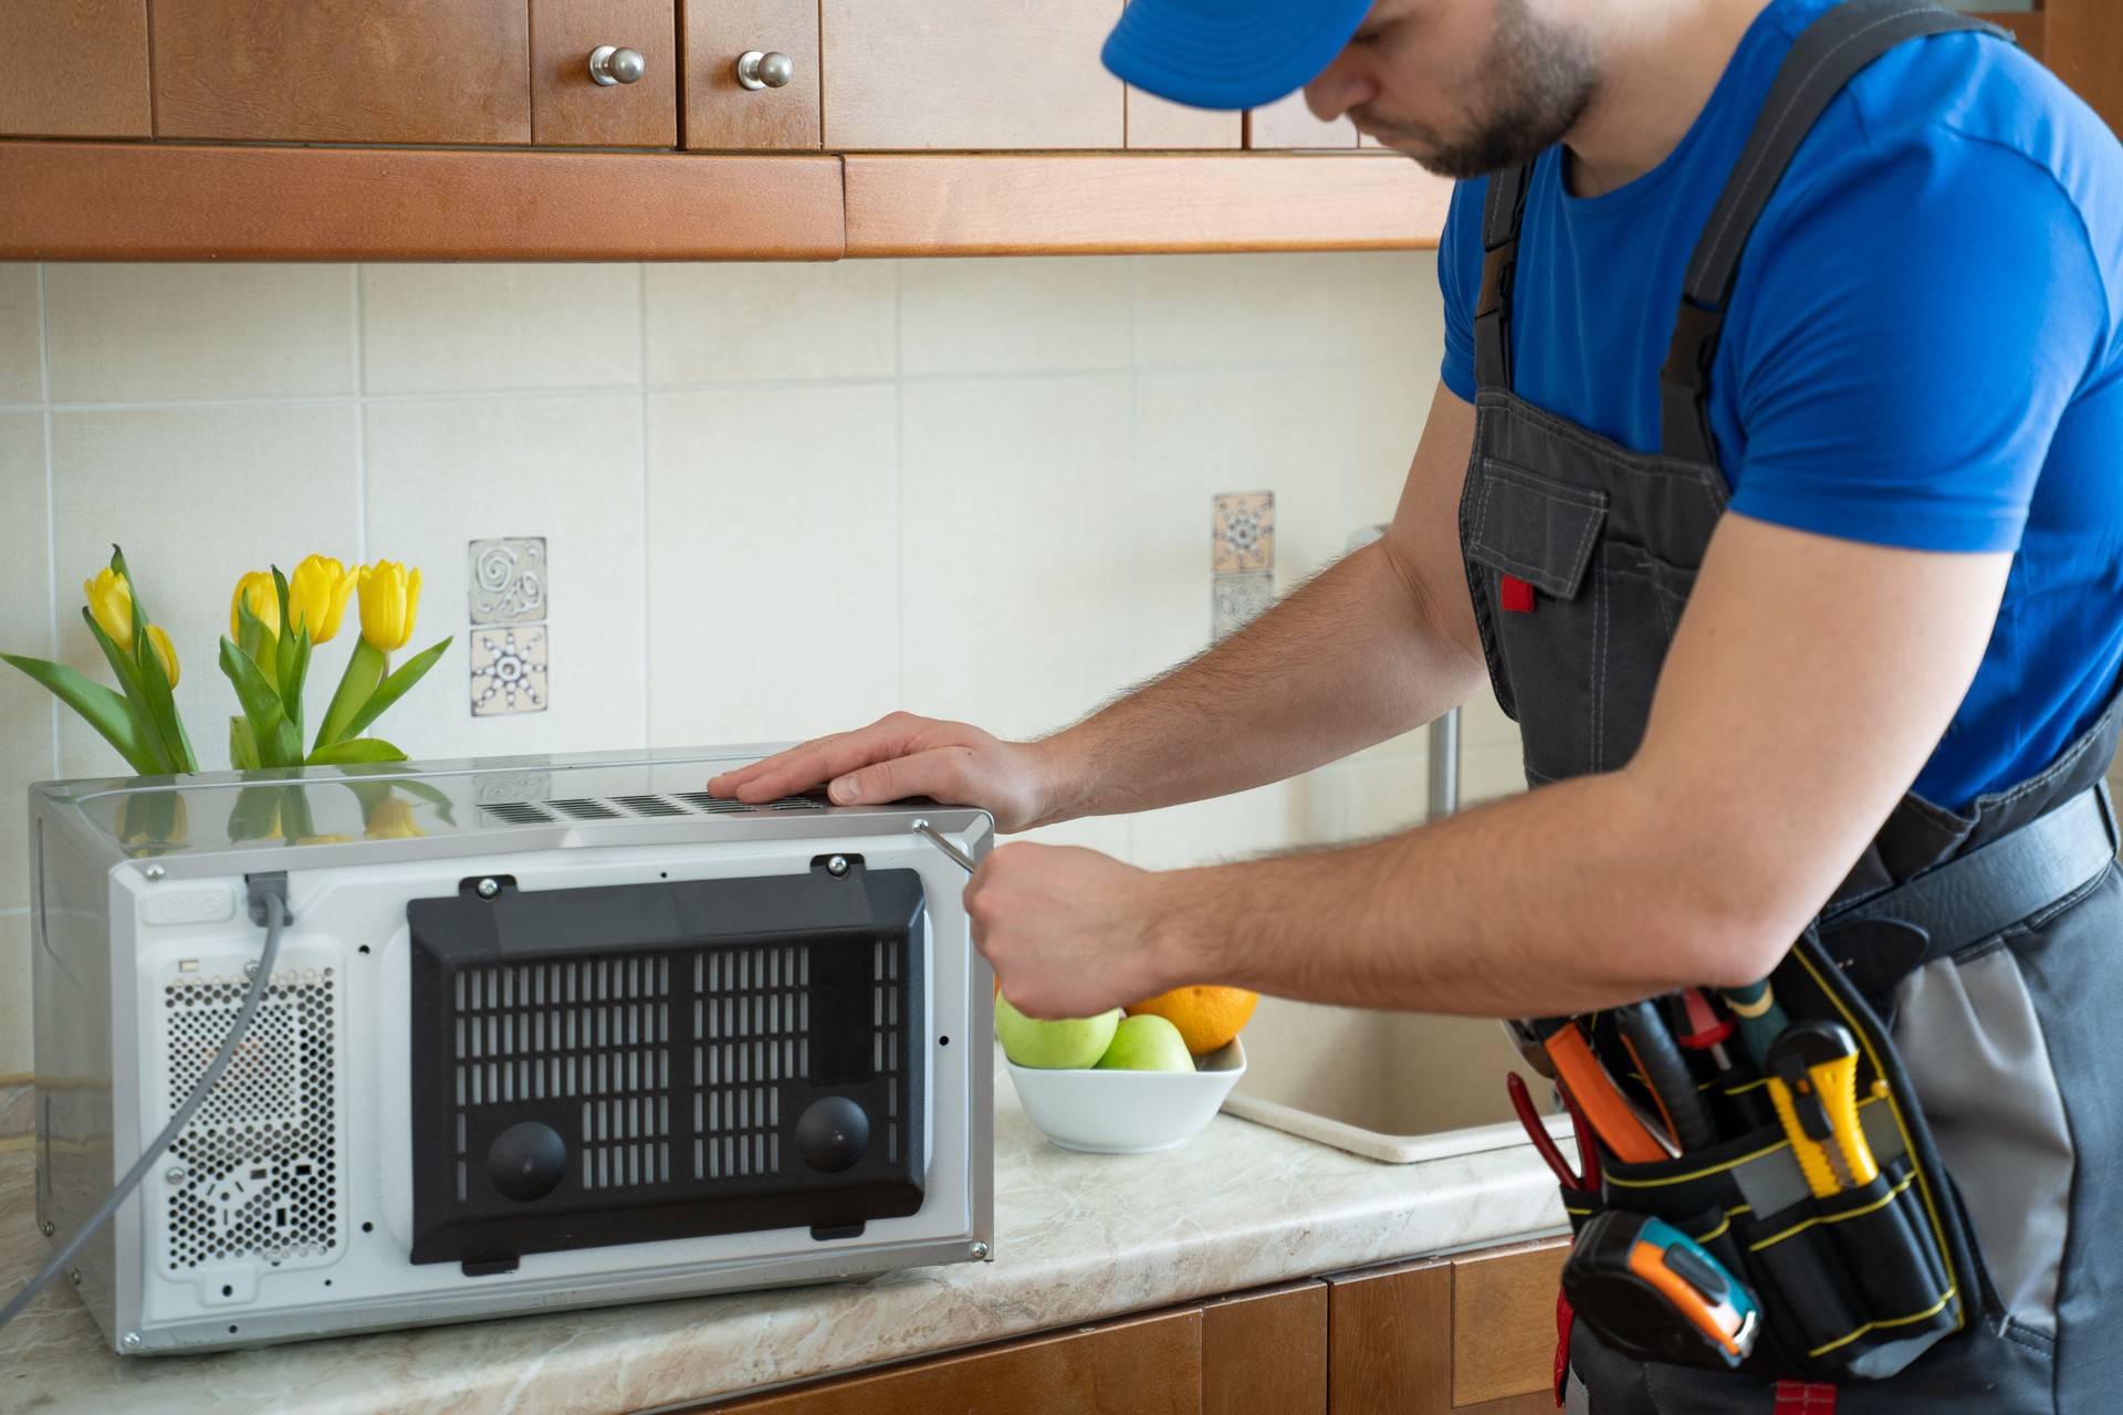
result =
[{"label": "narrow wooden upper cabinet section in the top left corner", "polygon": [[146,138],[146,0],[0,0],[0,134]]}]

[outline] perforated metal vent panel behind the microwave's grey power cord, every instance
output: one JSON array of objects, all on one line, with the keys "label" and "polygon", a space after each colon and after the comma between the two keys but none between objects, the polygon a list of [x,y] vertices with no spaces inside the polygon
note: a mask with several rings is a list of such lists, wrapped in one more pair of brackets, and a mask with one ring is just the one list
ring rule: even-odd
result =
[{"label": "perforated metal vent panel behind the microwave's grey power cord", "polygon": [[[242,1008],[246,978],[163,989],[174,1112]],[[170,1146],[166,1271],[325,1258],[344,1233],[335,1141],[338,986],[331,969],[276,972],[206,1105]]]}]

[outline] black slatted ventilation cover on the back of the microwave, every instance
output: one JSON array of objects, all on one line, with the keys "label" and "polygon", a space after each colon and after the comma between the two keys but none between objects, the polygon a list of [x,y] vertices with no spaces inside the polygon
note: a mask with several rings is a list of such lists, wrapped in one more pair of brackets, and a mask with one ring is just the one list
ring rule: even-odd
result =
[{"label": "black slatted ventilation cover on the back of the microwave", "polygon": [[[408,914],[414,1262],[919,1209],[913,870],[467,889]],[[822,1103],[860,1107],[860,1154],[805,1148]]]}]

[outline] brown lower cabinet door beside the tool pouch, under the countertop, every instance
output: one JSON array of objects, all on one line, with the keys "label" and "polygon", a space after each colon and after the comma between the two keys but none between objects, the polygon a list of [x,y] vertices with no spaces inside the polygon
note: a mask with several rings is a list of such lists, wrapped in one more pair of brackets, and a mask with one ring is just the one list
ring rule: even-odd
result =
[{"label": "brown lower cabinet door beside the tool pouch, under the countertop", "polygon": [[1327,1279],[1333,1415],[1548,1415],[1569,1241]]}]

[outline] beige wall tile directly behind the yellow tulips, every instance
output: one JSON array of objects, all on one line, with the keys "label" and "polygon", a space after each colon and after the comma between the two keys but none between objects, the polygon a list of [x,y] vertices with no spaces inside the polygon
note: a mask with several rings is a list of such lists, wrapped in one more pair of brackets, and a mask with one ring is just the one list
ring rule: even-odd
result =
[{"label": "beige wall tile directly behind the yellow tulips", "polygon": [[[227,766],[227,723],[236,689],[217,666],[229,632],[229,594],[244,571],[306,554],[355,560],[361,509],[355,499],[352,405],[221,405],[140,412],[83,412],[53,418],[53,530],[59,598],[59,658],[98,681],[110,670],[81,624],[81,581],[125,560],[155,622],[183,664],[178,709],[204,770]],[[321,664],[338,664],[333,647]],[[310,672],[314,723],[338,681]],[[119,755],[72,713],[59,728],[66,776],[123,772]]]}]

